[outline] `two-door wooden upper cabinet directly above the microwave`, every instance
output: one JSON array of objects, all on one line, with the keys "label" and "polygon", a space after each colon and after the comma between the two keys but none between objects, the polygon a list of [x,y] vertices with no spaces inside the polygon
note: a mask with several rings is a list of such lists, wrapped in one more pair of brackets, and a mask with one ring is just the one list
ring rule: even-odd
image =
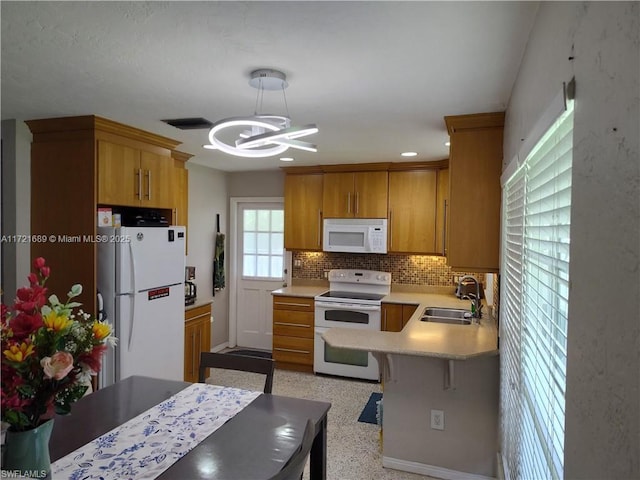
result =
[{"label": "two-door wooden upper cabinet directly above the microwave", "polygon": [[387,218],[387,171],[324,174],[324,218]]}]

